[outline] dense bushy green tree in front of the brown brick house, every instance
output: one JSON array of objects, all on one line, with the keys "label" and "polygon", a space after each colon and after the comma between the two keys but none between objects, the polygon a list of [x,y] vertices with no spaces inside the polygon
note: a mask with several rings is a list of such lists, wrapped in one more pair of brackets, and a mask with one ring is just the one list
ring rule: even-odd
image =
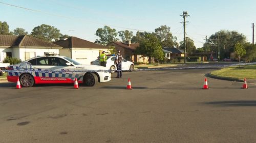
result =
[{"label": "dense bushy green tree in front of the brown brick house", "polygon": [[152,57],[158,60],[163,60],[164,58],[161,43],[155,34],[146,34],[145,38],[141,40],[140,45],[136,48],[135,52],[143,56],[148,56],[150,63]]}]

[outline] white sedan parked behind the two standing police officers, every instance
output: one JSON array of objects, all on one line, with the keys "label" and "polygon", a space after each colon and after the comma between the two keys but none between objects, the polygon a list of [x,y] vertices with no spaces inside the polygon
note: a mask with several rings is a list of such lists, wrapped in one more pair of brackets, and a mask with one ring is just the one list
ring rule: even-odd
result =
[{"label": "white sedan parked behind the two standing police officers", "polygon": [[[108,59],[106,60],[106,68],[110,69],[111,73],[114,73],[115,70],[117,69],[115,64],[115,58],[116,56],[108,56]],[[92,61],[91,65],[100,65],[99,59]],[[123,59],[122,70],[127,70],[127,71],[134,70],[134,63]]]}]

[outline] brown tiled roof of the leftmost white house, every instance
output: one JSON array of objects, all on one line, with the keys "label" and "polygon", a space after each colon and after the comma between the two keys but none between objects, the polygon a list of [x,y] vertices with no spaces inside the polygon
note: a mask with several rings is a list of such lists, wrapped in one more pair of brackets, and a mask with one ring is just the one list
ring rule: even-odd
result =
[{"label": "brown tiled roof of the leftmost white house", "polygon": [[59,45],[55,45],[44,40],[37,39],[29,35],[12,36],[12,35],[0,35],[0,46],[27,46],[27,47],[55,47],[61,48]]}]

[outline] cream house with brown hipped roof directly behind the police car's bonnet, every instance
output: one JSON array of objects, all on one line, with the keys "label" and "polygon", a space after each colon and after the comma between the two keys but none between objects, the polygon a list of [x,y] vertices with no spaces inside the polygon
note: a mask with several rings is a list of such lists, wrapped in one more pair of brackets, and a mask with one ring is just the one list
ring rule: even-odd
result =
[{"label": "cream house with brown hipped roof directly behind the police car's bonnet", "polygon": [[106,46],[77,37],[69,37],[53,43],[63,47],[59,50],[60,55],[68,56],[81,64],[91,64],[102,51],[109,51],[109,48]]}]

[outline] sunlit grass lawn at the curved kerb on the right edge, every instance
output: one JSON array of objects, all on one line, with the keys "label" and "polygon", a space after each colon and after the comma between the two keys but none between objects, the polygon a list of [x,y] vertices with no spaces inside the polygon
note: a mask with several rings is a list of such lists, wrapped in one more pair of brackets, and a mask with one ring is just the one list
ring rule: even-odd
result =
[{"label": "sunlit grass lawn at the curved kerb on the right edge", "polygon": [[238,79],[256,79],[256,65],[228,67],[221,70],[211,72],[212,75],[221,77],[231,77]]}]

